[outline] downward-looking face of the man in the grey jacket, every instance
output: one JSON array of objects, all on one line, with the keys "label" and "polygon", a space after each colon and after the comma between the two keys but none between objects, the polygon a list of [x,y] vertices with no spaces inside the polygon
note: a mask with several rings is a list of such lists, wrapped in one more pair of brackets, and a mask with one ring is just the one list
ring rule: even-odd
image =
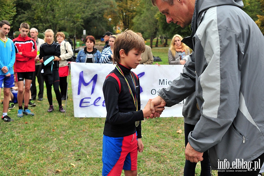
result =
[{"label": "downward-looking face of the man in the grey jacket", "polygon": [[192,0],[174,0],[172,6],[162,0],[156,0],[156,4],[160,13],[166,16],[167,23],[173,22],[182,28],[191,24],[194,12]]}]

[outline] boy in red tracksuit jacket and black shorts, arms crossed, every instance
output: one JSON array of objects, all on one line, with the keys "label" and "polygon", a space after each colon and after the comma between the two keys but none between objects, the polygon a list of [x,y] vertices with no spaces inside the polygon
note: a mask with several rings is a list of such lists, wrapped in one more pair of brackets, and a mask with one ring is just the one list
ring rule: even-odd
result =
[{"label": "boy in red tracksuit jacket and black shorts, arms crossed", "polygon": [[[14,71],[16,72],[16,82],[18,85],[18,117],[23,117],[23,114],[34,115],[28,109],[29,91],[35,71],[35,60],[37,56],[37,46],[33,38],[28,37],[29,25],[22,23],[19,28],[20,34],[17,38],[13,39],[16,49],[16,61],[14,64]],[[23,103],[23,90],[25,79],[25,94],[24,94],[24,110]]]}]

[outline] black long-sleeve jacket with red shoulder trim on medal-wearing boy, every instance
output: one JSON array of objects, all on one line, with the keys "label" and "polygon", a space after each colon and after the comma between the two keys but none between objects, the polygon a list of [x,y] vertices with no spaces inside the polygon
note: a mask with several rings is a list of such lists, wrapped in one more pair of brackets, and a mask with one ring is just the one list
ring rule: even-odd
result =
[{"label": "black long-sleeve jacket with red shoulder trim on medal-wearing boy", "polygon": [[[131,79],[131,69],[118,63],[123,71],[133,95],[137,96],[138,111],[134,100],[129,92],[128,85],[123,75],[115,68],[106,77],[103,85],[103,93],[106,105],[106,120],[103,134],[110,137],[124,137],[137,132],[138,138],[141,136],[141,120],[144,120],[143,111],[140,110],[140,86],[138,76],[133,73],[136,82],[136,91]],[[135,122],[140,121],[138,127]]]}]

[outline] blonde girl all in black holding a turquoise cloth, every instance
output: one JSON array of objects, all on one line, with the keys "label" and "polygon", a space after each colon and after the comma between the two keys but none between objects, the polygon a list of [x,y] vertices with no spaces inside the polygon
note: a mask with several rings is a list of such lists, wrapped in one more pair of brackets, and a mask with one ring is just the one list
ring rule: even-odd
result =
[{"label": "blonde girl all in black holding a turquoise cloth", "polygon": [[53,85],[56,99],[59,104],[59,111],[64,113],[65,110],[62,107],[61,94],[59,89],[60,44],[54,42],[54,32],[51,29],[47,29],[45,31],[44,41],[46,43],[40,46],[39,61],[42,63],[41,74],[46,84],[47,97],[50,104],[48,112],[52,112],[54,110],[51,93]]}]

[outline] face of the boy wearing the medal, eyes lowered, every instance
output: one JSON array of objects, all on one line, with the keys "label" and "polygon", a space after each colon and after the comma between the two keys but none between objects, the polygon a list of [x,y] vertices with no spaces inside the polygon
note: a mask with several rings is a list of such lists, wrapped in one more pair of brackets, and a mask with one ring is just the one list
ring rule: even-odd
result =
[{"label": "face of the boy wearing the medal, eyes lowered", "polygon": [[[120,50],[121,51],[121,50]],[[124,52],[120,53],[120,63],[128,68],[136,68],[139,62],[142,61],[141,53],[135,49],[130,50],[127,55]]]}]

